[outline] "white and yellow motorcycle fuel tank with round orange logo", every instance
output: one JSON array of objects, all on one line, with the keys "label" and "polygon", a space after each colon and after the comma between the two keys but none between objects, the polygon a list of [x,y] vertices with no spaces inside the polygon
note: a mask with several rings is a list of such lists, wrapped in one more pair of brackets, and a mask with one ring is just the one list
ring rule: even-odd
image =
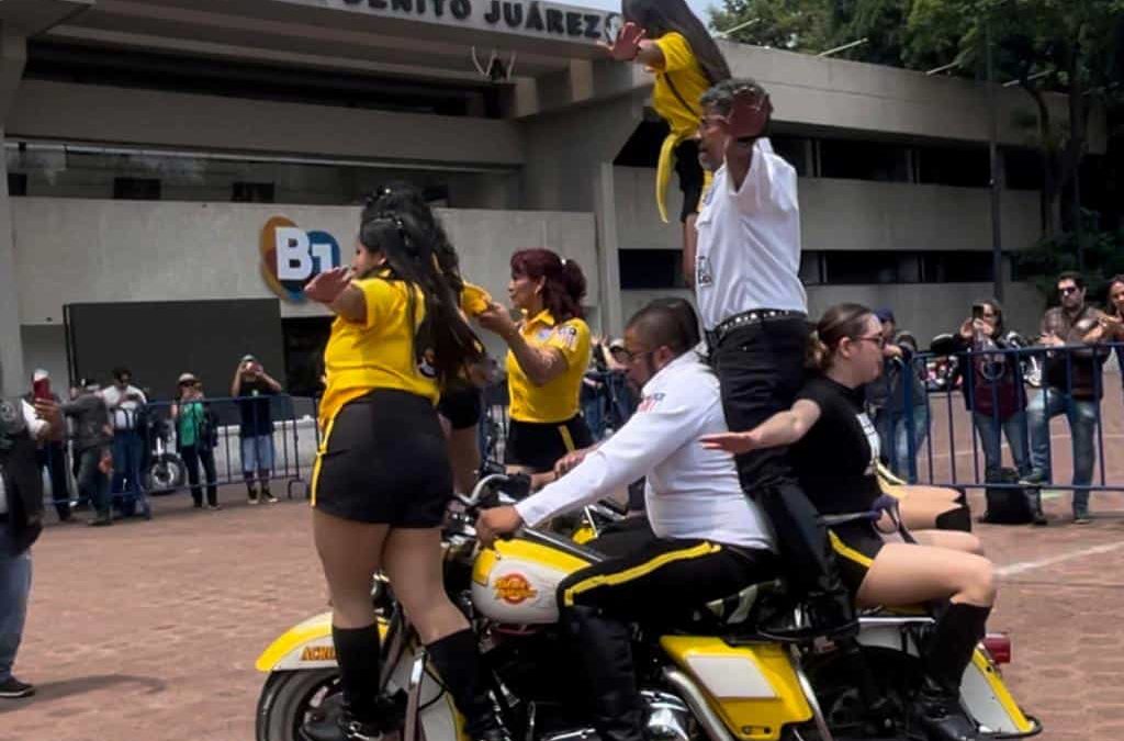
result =
[{"label": "white and yellow motorcycle fuel tank with round orange logo", "polygon": [[499,623],[541,625],[559,617],[559,582],[589,566],[569,553],[515,539],[496,541],[472,566],[472,604]]}]

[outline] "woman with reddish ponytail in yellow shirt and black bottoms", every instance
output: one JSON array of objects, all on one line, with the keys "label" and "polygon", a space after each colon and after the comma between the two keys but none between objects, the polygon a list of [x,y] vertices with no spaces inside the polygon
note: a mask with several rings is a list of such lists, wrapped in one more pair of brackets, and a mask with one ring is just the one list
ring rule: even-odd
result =
[{"label": "woman with reddish ponytail in yellow shirt and black bottoms", "polygon": [[544,473],[566,453],[592,444],[578,410],[591,353],[581,310],[586,277],[575,262],[550,250],[522,250],[511,255],[508,292],[522,322],[513,322],[498,305],[477,316],[509,349],[505,462],[510,469]]}]

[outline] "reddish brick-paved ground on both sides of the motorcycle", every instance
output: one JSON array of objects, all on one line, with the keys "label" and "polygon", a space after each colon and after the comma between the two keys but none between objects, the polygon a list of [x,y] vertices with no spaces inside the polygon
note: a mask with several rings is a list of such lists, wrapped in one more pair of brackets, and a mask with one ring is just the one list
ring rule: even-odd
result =
[{"label": "reddish brick-paved ground on both sides of the motorcycle", "polygon": [[[1108,472],[1124,481],[1118,417]],[[218,513],[180,495],[156,499],[151,523],[47,530],[17,665],[39,695],[0,701],[0,740],[253,739],[254,660],[325,593],[303,503],[224,497]],[[1124,496],[1095,497],[1091,525],[1067,522],[1066,495],[1048,499],[1049,527],[978,531],[1004,575],[991,629],[1014,639],[1007,677],[1051,741],[1124,738]]]}]

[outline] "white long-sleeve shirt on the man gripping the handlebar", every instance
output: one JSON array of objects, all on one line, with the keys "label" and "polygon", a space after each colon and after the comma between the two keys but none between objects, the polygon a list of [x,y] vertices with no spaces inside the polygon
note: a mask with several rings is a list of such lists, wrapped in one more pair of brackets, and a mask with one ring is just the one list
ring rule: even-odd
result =
[{"label": "white long-sleeve shirt on the man gripping the handlebar", "polygon": [[723,432],[718,379],[687,352],[644,385],[636,414],[613,437],[516,509],[534,526],[646,476],[647,516],[658,536],[771,550],[772,533],[742,493],[733,457],[699,441]]}]

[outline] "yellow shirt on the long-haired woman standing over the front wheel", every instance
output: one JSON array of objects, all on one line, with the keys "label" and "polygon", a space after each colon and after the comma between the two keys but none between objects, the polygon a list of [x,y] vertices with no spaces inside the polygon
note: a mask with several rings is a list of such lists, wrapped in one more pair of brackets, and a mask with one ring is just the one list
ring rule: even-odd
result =
[{"label": "yellow shirt on the long-haired woman standing over the front wheel", "polygon": [[[324,349],[328,383],[320,399],[320,426],[339,409],[374,389],[399,389],[437,404],[437,379],[429,368],[419,368],[414,352],[414,335],[425,319],[422,289],[384,277],[352,281],[366,299],[366,318],[348,322],[336,317]],[[415,316],[409,322],[407,291],[414,291]]]}]

